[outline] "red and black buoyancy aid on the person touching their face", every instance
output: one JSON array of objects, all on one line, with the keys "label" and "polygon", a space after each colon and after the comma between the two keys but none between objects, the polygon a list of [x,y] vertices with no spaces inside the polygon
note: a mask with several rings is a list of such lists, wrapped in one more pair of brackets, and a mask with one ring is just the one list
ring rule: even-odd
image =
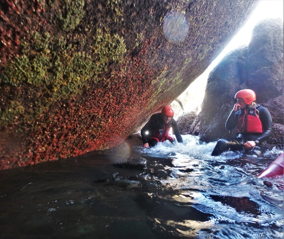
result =
[{"label": "red and black buoyancy aid on the person touching their face", "polygon": [[237,130],[238,133],[262,133],[262,123],[260,121],[258,110],[260,105],[256,105],[250,109],[241,110],[238,117]]}]

